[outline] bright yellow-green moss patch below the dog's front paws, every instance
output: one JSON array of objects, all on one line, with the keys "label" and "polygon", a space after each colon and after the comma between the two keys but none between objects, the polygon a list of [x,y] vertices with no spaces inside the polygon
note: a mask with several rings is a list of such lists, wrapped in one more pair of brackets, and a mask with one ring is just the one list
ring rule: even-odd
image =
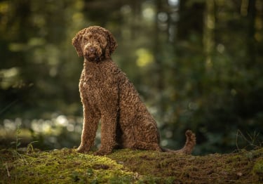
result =
[{"label": "bright yellow-green moss patch below the dog's front paws", "polygon": [[111,183],[133,182],[135,173],[107,157],[84,155],[74,150],[34,153],[12,163],[8,183]]}]

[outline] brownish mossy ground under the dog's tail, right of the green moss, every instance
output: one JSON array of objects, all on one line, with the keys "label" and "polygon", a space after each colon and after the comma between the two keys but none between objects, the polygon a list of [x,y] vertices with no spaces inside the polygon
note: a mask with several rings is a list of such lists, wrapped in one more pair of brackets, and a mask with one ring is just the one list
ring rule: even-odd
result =
[{"label": "brownish mossy ground under the dog's tail, right of the green moss", "polygon": [[263,182],[263,149],[206,156],[121,150],[109,157],[156,183]]}]

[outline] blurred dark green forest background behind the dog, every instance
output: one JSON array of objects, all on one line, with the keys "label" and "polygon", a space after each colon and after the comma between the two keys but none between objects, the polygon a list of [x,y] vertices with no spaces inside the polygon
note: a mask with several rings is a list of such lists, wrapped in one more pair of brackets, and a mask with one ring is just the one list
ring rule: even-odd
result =
[{"label": "blurred dark green forest background behind the dog", "polygon": [[262,146],[262,0],[10,0],[0,1],[0,148],[79,145],[72,38],[90,25],[114,34],[112,58],[162,146],[181,147],[187,129],[196,155]]}]

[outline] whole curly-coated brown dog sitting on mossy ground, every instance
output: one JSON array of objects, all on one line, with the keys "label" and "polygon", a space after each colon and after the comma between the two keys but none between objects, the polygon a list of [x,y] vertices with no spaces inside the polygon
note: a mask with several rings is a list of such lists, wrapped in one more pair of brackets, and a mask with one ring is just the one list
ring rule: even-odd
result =
[{"label": "whole curly-coated brown dog sitting on mossy ground", "polygon": [[[99,121],[101,147],[96,155],[107,155],[114,147],[169,151],[160,147],[156,121],[126,74],[111,59],[117,47],[112,34],[92,26],[79,31],[72,44],[84,57],[79,82],[84,119],[78,152],[88,152],[93,146]],[[192,152],[196,136],[191,131],[185,134],[184,147],[173,152]]]}]

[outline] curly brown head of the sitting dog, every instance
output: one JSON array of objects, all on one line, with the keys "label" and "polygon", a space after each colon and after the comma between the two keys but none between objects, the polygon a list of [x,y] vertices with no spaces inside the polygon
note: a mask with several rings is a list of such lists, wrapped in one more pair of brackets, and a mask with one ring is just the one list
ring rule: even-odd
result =
[{"label": "curly brown head of the sitting dog", "polygon": [[91,26],[79,31],[72,39],[78,55],[91,62],[109,59],[117,47],[112,33],[99,26]]}]

